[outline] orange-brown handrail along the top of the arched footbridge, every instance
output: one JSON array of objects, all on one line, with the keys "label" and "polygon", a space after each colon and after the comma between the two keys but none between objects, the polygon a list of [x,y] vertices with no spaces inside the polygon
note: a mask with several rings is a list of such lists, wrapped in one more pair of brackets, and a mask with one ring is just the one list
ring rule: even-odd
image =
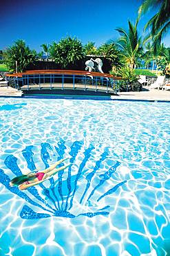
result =
[{"label": "orange-brown handrail along the top of the arched footbridge", "polygon": [[114,75],[108,73],[100,73],[100,72],[88,72],[88,71],[74,71],[74,70],[63,70],[63,69],[46,69],[46,70],[33,70],[33,71],[25,71],[22,73],[13,73],[6,74],[7,77],[23,77],[23,75],[47,75],[47,74],[61,74],[61,75],[92,75],[94,77],[108,77],[114,80],[124,80],[125,78],[116,77]]}]

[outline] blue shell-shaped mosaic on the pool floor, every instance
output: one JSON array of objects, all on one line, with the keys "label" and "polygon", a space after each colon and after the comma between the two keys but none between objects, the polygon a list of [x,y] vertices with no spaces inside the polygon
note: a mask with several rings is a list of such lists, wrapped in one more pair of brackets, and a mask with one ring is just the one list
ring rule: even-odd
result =
[{"label": "blue shell-shaped mosaic on the pool floor", "polygon": [[[80,215],[86,217],[94,217],[96,215],[108,215],[110,205],[105,205],[100,208],[100,200],[104,197],[107,197],[116,190],[124,185],[127,181],[118,181],[118,183],[112,187],[107,188],[107,182],[111,179],[111,175],[116,172],[117,167],[120,165],[120,162],[115,162],[113,166],[109,167],[106,172],[100,174],[100,165],[103,163],[105,158],[109,156],[109,152],[107,148],[103,150],[103,153],[100,154],[98,161],[94,163],[94,167],[90,172],[86,174],[85,165],[89,161],[90,156],[93,152],[95,152],[95,148],[93,145],[89,145],[87,149],[83,152],[83,160],[78,165],[78,172],[76,175],[72,174],[72,166],[74,165],[74,161],[81,147],[83,146],[83,142],[74,141],[70,146],[69,156],[70,157],[70,165],[67,170],[60,171],[58,174],[49,181],[45,181],[39,185],[36,185],[32,188],[28,188],[28,190],[21,191],[17,187],[10,187],[10,177],[4,172],[4,170],[0,169],[0,183],[2,183],[10,192],[13,194],[17,194],[21,199],[25,201],[23,208],[20,212],[20,216],[23,219],[41,219],[47,217],[66,217],[66,218],[75,218]],[[25,159],[28,169],[32,172],[36,170],[36,164],[34,163],[34,152],[33,145],[25,147],[22,150],[22,156]],[[50,166],[50,152],[55,150],[55,154],[57,155],[57,161],[65,158],[65,141],[60,140],[59,143],[56,143],[56,146],[51,146],[50,143],[42,143],[41,144],[41,152],[40,158],[43,161],[45,168]],[[14,155],[9,155],[6,157],[4,161],[4,165],[15,175],[19,176],[22,174],[19,165],[17,164],[17,157]],[[63,165],[63,164],[61,164]],[[86,168],[87,169],[87,168]],[[63,179],[63,173],[67,171],[67,179]],[[93,183],[94,176],[98,175],[98,182]],[[13,178],[13,177],[12,177]],[[85,189],[77,192],[78,190],[78,181],[84,179],[83,183],[85,184]],[[47,182],[47,183],[46,183]],[[49,185],[46,185],[49,184]],[[40,188],[40,187],[41,188]],[[84,210],[84,212],[78,213],[78,207],[81,208],[81,205],[88,205],[88,209],[90,209],[91,199],[96,194],[99,188],[103,188],[103,194],[100,194],[98,198],[96,198],[96,203],[93,205],[92,209],[88,212]],[[76,194],[78,193],[78,196]],[[74,202],[77,201],[78,205]],[[75,208],[77,210],[75,211]],[[34,208],[39,211],[36,212]],[[96,209],[96,210],[95,210]],[[72,213],[76,212],[76,214]]]}]

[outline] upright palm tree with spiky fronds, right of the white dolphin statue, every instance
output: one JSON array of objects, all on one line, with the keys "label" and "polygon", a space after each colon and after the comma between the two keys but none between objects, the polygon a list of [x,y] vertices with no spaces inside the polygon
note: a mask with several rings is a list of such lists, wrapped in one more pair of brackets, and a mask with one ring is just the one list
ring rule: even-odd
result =
[{"label": "upright palm tree with spiky fronds, right of the white dolphin statue", "polygon": [[116,28],[120,34],[116,44],[120,48],[120,55],[123,57],[125,64],[133,69],[143,54],[142,39],[138,35],[138,19],[134,25],[131,24],[131,21],[128,21],[128,25],[127,31],[123,28]]}]

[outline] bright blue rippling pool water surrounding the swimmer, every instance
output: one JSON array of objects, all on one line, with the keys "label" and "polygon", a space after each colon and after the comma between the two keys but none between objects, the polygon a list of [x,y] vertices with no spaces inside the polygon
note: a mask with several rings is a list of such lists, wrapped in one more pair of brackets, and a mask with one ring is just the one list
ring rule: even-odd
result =
[{"label": "bright blue rippling pool water surrounding the swimmer", "polygon": [[169,255],[169,103],[0,98],[0,116],[0,255]]}]

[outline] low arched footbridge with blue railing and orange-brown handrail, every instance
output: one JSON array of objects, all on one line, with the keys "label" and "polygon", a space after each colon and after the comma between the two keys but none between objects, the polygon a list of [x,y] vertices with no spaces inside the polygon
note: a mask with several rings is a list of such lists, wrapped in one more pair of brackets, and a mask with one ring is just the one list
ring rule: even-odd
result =
[{"label": "low arched footbridge with blue railing and orange-brown handrail", "polygon": [[8,84],[23,93],[115,94],[122,77],[74,70],[34,70],[6,74]]}]

